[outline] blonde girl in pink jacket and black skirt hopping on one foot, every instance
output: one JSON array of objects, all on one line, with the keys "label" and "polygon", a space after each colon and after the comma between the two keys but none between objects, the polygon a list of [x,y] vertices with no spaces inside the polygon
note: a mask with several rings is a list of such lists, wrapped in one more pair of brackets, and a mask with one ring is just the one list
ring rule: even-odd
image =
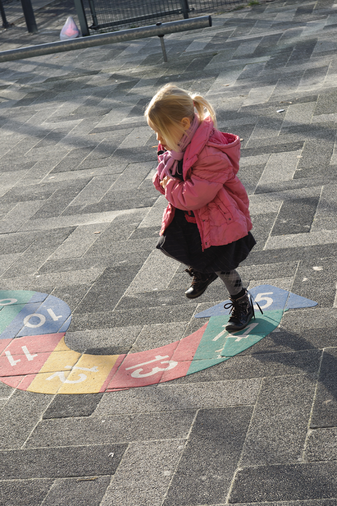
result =
[{"label": "blonde girl in pink jacket and black skirt hopping on one foot", "polygon": [[256,241],[249,232],[248,196],[236,176],[240,139],[217,130],[206,99],[172,84],[157,92],[145,117],[159,142],[153,184],[168,201],[156,247],[189,266],[189,299],[219,276],[231,300],[226,330],[241,330],[254,308],[235,269]]}]

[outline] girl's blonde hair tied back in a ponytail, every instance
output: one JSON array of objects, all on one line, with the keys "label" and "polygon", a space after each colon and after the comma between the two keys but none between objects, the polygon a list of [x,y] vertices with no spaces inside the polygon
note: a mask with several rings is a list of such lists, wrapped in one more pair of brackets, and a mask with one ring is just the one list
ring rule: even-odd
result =
[{"label": "girl's blonde hair tied back in a ponytail", "polygon": [[[201,95],[190,94],[173,83],[168,83],[160,88],[147,106],[144,115],[162,135],[167,145],[171,149],[177,150],[179,149],[177,143],[185,133],[181,120],[188,117],[192,121],[194,108],[200,121],[210,116],[217,128],[216,113],[212,105]],[[181,133],[178,140],[174,132]]]}]

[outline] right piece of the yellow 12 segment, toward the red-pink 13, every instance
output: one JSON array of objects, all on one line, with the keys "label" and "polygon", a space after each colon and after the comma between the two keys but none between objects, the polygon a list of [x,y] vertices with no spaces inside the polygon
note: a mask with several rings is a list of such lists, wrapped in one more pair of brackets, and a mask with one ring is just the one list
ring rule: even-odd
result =
[{"label": "right piece of the yellow 12 segment, toward the red-pink 13", "polygon": [[[59,394],[89,394],[99,392],[119,355],[82,355],[67,377]],[[78,367],[78,369],[77,369]],[[87,370],[93,369],[93,370]],[[68,383],[73,381],[76,383]]]}]

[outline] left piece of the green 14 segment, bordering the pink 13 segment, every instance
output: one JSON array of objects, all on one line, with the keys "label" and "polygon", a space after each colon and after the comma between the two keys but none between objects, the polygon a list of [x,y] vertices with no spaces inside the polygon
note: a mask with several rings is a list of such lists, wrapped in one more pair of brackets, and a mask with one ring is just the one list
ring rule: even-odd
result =
[{"label": "left piece of the green 14 segment, bordering the pink 13 segment", "polygon": [[[197,351],[195,352],[193,362],[195,360],[203,360],[203,359],[214,360],[221,358],[219,355],[220,351],[223,349],[225,339],[220,338],[219,341],[218,340],[213,341],[213,339],[221,331],[224,331],[224,333],[226,333],[222,325],[226,325],[228,320],[229,315],[212,316],[212,318],[210,318],[206,330],[204,331],[199,346],[197,348]],[[220,330],[218,330],[218,328]]]}]

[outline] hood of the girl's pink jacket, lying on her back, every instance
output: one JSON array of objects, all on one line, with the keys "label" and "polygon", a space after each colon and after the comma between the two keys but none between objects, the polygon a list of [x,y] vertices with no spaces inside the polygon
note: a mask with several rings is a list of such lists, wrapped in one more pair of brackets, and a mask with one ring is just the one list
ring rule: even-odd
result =
[{"label": "hood of the girl's pink jacket, lying on her back", "polygon": [[215,129],[212,118],[207,116],[201,121],[199,128],[186,148],[183,165],[184,178],[205,146],[215,147],[225,153],[233,165],[235,174],[237,173],[239,170],[238,160],[240,158],[241,147],[239,136]]}]

